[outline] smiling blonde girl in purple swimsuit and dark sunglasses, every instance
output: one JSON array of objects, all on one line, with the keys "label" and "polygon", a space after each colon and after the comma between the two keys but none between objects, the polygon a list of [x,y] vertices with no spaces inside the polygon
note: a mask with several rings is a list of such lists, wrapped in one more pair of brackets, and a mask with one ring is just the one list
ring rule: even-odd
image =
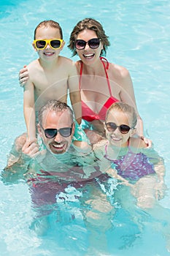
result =
[{"label": "smiling blonde girl in purple swimsuit and dark sunglasses", "polygon": [[[109,176],[131,186],[137,205],[152,208],[156,199],[163,197],[163,159],[144,140],[134,137],[137,115],[133,107],[123,102],[114,103],[108,110],[104,124],[107,141],[93,146],[111,162]],[[98,150],[98,146],[100,150]],[[100,153],[99,153],[100,152]]]}]

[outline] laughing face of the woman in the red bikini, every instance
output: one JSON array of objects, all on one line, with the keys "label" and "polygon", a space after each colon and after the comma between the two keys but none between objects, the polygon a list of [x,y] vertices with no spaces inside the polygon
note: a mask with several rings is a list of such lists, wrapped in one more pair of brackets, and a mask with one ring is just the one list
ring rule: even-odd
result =
[{"label": "laughing face of the woman in the red bikini", "polygon": [[[88,42],[90,39],[98,38],[96,35],[96,32],[90,29],[85,29],[81,31],[77,39],[82,39],[85,42]],[[89,47],[88,44],[85,45],[85,49],[83,50],[77,50],[78,56],[80,56],[80,59],[85,65],[92,65],[95,63],[96,60],[99,59],[101,50],[103,49],[103,44],[100,41],[100,45],[96,49],[92,49]]]}]

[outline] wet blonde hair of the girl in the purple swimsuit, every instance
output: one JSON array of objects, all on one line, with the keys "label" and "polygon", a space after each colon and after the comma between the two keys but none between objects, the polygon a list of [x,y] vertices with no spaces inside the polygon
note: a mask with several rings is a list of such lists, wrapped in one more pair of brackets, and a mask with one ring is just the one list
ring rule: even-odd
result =
[{"label": "wet blonde hair of the girl in the purple swimsuit", "polygon": [[107,110],[106,121],[107,121],[107,118],[109,116],[109,112],[111,110],[121,111],[121,112],[125,113],[125,115],[127,115],[127,117],[131,116],[131,120],[132,120],[132,124],[131,124],[132,127],[131,128],[136,127],[137,114],[136,114],[136,110],[134,109],[134,107],[132,107],[131,105],[128,105],[126,103],[123,103],[123,102],[115,102]]}]

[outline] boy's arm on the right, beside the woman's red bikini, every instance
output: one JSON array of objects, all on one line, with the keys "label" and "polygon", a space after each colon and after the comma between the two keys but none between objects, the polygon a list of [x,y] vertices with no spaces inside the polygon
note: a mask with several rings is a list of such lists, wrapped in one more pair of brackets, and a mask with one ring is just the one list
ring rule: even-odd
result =
[{"label": "boy's arm on the right, beside the woman's red bikini", "polygon": [[77,69],[73,65],[69,73],[69,97],[72,103],[72,108],[74,110],[74,116],[78,124],[81,124],[82,121],[82,105],[81,105],[81,96],[79,89],[79,78],[77,75]]}]

